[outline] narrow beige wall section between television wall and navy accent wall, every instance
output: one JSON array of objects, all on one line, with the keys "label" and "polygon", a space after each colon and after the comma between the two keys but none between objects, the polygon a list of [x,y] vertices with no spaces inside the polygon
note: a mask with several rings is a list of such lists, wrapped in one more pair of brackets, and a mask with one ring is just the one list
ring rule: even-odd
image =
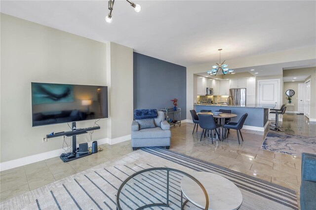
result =
[{"label": "narrow beige wall section between television wall and navy accent wall", "polygon": [[133,121],[133,49],[110,42],[110,120],[108,138],[131,134]]}]

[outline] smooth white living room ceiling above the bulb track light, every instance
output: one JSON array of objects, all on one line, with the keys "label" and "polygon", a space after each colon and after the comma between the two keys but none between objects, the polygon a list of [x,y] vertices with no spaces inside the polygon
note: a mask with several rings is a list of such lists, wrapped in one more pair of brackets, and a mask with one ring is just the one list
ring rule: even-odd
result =
[{"label": "smooth white living room ceiling above the bulb track light", "polygon": [[316,45],[316,1],[0,1],[2,13],[182,66]]}]

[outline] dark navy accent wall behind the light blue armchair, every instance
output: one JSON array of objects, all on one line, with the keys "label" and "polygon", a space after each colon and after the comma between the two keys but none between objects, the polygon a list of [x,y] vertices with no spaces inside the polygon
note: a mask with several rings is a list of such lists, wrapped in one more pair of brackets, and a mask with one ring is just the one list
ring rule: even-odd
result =
[{"label": "dark navy accent wall behind the light blue armchair", "polygon": [[171,108],[170,100],[176,98],[181,120],[186,119],[186,70],[186,67],[134,52],[134,109]]}]

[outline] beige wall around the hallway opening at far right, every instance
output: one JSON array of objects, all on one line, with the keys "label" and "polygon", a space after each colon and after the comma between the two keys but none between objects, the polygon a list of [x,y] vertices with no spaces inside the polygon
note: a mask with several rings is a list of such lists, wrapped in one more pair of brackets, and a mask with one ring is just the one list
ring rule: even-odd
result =
[{"label": "beige wall around the hallway opening at far right", "polygon": [[[283,70],[283,76],[300,76],[310,75],[307,79],[311,79],[311,112],[310,120],[316,121],[316,67],[302,68],[293,70]],[[305,81],[306,81],[305,80]],[[302,82],[303,83],[303,82]]]}]

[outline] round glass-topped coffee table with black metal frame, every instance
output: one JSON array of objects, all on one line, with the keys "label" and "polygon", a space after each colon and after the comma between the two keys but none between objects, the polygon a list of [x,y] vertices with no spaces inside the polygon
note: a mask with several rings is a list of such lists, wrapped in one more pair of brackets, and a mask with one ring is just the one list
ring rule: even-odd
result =
[{"label": "round glass-topped coffee table with black metal frame", "polygon": [[201,209],[208,210],[209,198],[200,181],[190,174],[171,168],[149,168],[128,176],[118,188],[117,210],[142,210],[153,207],[182,209],[185,204],[180,188],[181,178],[200,190],[199,201],[204,199],[204,206]]}]

